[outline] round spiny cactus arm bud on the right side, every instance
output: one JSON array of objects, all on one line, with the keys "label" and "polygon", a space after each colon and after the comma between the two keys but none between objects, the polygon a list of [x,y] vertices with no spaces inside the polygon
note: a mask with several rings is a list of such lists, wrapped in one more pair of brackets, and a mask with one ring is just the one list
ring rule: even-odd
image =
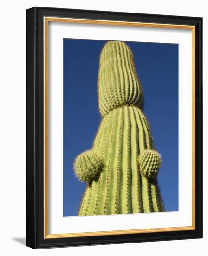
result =
[{"label": "round spiny cactus arm bud on the right side", "polygon": [[138,157],[140,172],[148,179],[156,177],[160,165],[161,156],[154,149],[144,150]]}]

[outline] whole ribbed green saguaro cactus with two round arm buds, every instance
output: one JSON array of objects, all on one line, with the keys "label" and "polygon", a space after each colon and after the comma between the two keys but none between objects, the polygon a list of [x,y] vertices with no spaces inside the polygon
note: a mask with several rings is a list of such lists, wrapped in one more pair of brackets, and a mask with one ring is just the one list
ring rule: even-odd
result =
[{"label": "whole ribbed green saguaro cactus with two round arm buds", "polygon": [[77,156],[75,174],[86,189],[78,215],[161,212],[161,157],[143,114],[143,91],[133,54],[107,42],[100,54],[98,104],[102,116],[90,150]]}]

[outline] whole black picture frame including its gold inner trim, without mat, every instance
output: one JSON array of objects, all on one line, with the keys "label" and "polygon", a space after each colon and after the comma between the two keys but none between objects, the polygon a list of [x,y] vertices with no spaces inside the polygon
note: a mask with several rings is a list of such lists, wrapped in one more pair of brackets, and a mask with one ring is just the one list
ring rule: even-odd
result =
[{"label": "whole black picture frame including its gold inner trim, without mat", "polygon": [[[202,238],[202,18],[33,7],[26,13],[26,245],[33,249]],[[191,32],[191,225],[93,232],[49,232],[49,24],[87,24]],[[155,29],[155,30],[154,30]],[[155,33],[154,32],[154,33]],[[91,35],[89,35],[91,37]],[[180,73],[180,65],[179,65]],[[180,155],[179,155],[180,157]],[[188,188],[189,189],[189,188]],[[188,191],[187,189],[187,191]],[[102,216],[101,216],[102,217]],[[84,219],[84,217],[83,217]],[[75,219],[73,219],[75,220]],[[80,224],[81,225],[81,224]]]}]

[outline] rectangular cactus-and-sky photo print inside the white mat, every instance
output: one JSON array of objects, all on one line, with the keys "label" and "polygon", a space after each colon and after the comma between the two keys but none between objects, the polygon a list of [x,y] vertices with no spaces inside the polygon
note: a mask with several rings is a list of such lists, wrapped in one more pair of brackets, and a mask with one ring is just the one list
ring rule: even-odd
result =
[{"label": "rectangular cactus-and-sky photo print inside the white mat", "polygon": [[178,44],[63,39],[63,215],[178,211]]}]

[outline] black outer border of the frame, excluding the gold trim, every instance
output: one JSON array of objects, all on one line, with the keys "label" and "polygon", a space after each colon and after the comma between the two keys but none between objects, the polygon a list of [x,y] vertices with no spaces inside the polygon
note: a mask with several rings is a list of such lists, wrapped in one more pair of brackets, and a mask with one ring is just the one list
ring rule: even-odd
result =
[{"label": "black outer border of the frame, excluding the gold trim", "polygon": [[[195,26],[195,230],[44,239],[44,16]],[[202,18],[33,7],[26,11],[26,245],[33,248],[202,238]]]}]

